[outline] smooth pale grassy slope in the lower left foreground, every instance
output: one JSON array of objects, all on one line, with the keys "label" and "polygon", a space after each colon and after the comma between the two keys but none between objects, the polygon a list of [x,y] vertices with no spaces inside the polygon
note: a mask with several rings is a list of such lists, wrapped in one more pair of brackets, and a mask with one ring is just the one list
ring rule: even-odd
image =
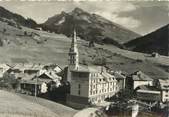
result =
[{"label": "smooth pale grassy slope in the lower left foreground", "polygon": [[1,117],[72,117],[76,113],[72,108],[45,99],[3,90],[0,94]]}]

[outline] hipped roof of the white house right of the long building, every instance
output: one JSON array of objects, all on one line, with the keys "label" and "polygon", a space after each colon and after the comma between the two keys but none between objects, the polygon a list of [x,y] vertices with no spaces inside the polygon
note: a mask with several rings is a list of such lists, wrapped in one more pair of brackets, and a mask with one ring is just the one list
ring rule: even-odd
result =
[{"label": "hipped roof of the white house right of the long building", "polygon": [[150,78],[148,75],[144,74],[141,71],[136,71],[133,74],[131,74],[133,80],[139,80],[139,81],[153,81],[152,78]]}]

